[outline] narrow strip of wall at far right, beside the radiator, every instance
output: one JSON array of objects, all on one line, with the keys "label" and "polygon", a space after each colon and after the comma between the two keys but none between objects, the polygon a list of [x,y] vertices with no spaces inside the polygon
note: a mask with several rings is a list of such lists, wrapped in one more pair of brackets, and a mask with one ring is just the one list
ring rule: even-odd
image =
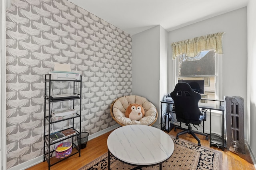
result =
[{"label": "narrow strip of wall at far right, beside the radiator", "polygon": [[247,7],[247,16],[248,16],[248,85],[247,85],[247,94],[248,94],[248,132],[247,140],[250,145],[250,151],[253,153],[254,165],[256,165],[256,1],[249,0]]}]

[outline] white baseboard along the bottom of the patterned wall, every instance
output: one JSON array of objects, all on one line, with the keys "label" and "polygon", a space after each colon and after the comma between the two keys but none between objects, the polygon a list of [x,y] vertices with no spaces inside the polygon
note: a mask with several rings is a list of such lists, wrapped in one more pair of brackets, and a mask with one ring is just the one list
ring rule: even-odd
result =
[{"label": "white baseboard along the bottom of the patterned wall", "polygon": [[[91,139],[94,139],[94,138],[96,138],[96,137],[98,137],[98,136],[100,136],[100,135],[103,135],[103,134],[105,134],[105,133],[107,133],[107,132],[109,132],[109,131],[112,131],[112,130],[118,128],[118,127],[120,127],[120,125],[119,125],[119,124],[116,124],[116,125],[114,125],[114,126],[111,126],[111,127],[106,128],[106,129],[104,129],[104,130],[102,130],[102,131],[99,131],[99,132],[97,132],[97,133],[94,133],[94,134],[92,134],[92,135],[89,135],[88,141],[90,141]],[[34,159],[32,159],[32,160],[29,160],[29,161],[27,161],[27,162],[24,162],[24,163],[22,163],[22,164],[19,164],[19,165],[17,165],[17,166],[14,166],[14,167],[12,167],[12,168],[10,168],[10,169],[8,169],[8,170],[25,170],[25,169],[27,169],[27,168],[30,168],[31,166],[34,166],[34,165],[36,165],[36,164],[39,164],[39,163],[43,162],[43,161],[44,161],[44,156],[41,155],[41,156],[38,156],[37,158],[34,158]]]}]

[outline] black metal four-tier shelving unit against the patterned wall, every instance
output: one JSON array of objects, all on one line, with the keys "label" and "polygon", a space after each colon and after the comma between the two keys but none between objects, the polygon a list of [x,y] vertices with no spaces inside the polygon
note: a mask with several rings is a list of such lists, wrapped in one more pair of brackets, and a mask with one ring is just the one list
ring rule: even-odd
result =
[{"label": "black metal four-tier shelving unit against the patterned wall", "polygon": [[[80,152],[80,140],[76,140],[77,136],[81,135],[81,92],[82,92],[82,76],[80,76],[79,80],[52,80],[51,79],[51,74],[46,74],[45,75],[45,84],[44,84],[44,161],[48,162],[48,169],[50,170],[50,167],[57,164],[58,162],[61,162],[63,160],[65,160],[66,158],[73,156],[75,154],[79,154],[79,156],[81,156],[81,152]],[[51,92],[53,93],[54,90],[52,89],[52,83],[53,82],[73,82],[74,86],[73,86],[73,94],[78,95],[77,98],[67,98],[67,99],[61,99],[61,100],[51,100],[50,96],[51,96]],[[73,107],[75,106],[75,101],[79,100],[80,101],[80,109],[79,111],[76,112],[75,115],[73,115],[72,117],[68,117],[62,120],[54,120],[52,118],[52,111],[53,111],[53,106],[52,104],[54,102],[61,102],[61,101],[68,101],[71,100],[73,101]],[[48,103],[47,103],[48,102]],[[48,104],[48,111],[46,111],[46,105]],[[48,114],[47,114],[48,112]],[[79,119],[79,127],[74,127],[74,119]],[[54,123],[60,123],[62,121],[67,121],[67,120],[72,120],[72,128],[74,129],[74,131],[76,131],[76,133],[74,135],[65,137],[64,139],[52,142],[50,139],[50,135],[52,133],[52,129],[51,126]],[[47,129],[46,129],[47,128]],[[66,129],[69,129],[70,126]],[[66,129],[62,129],[66,130]],[[72,141],[72,152],[70,155],[66,156],[65,158],[56,158],[55,156],[55,148],[51,148],[51,147],[55,147],[55,145],[57,143],[60,142],[65,142],[65,141]]]}]

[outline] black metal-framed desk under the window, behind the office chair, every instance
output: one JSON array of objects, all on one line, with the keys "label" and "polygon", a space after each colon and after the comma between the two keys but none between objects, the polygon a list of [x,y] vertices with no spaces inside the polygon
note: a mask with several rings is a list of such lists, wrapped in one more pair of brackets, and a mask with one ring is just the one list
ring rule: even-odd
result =
[{"label": "black metal-framed desk under the window, behind the office chair", "polygon": [[[207,99],[201,99],[201,100],[207,100]],[[210,99],[212,100],[212,99]],[[225,145],[225,141],[224,141],[224,111],[225,111],[225,108],[224,106],[221,106],[221,102],[224,102],[223,100],[212,100],[212,101],[216,101],[216,102],[220,102],[220,105],[218,104],[208,104],[208,103],[198,103],[198,106],[202,109],[208,109],[210,111],[210,147],[212,147],[212,145],[216,145],[217,147],[222,147],[222,150],[224,150],[224,147],[226,147]],[[162,100],[161,101],[161,112],[162,112],[162,104],[167,104],[167,113],[170,112],[169,108],[170,108],[170,105],[173,105],[174,102],[173,101],[168,101],[168,100]],[[214,143],[212,141],[212,110],[218,110],[218,111],[222,111],[222,145],[221,144],[218,144],[218,143]],[[162,113],[160,115],[160,118],[161,118],[161,129],[162,129]]]}]

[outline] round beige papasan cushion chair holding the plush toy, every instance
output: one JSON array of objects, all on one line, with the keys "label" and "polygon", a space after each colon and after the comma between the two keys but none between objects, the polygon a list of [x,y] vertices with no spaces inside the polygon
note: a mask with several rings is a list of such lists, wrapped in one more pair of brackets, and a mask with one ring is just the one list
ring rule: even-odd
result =
[{"label": "round beige papasan cushion chair holding the plush toy", "polygon": [[[142,117],[139,121],[131,120],[128,117],[125,117],[126,108],[130,104],[140,104],[145,111],[145,116]],[[156,122],[158,113],[156,107],[149,102],[146,98],[141,96],[123,96],[115,100],[110,107],[110,114],[113,119],[121,126],[124,125],[153,125]]]}]

